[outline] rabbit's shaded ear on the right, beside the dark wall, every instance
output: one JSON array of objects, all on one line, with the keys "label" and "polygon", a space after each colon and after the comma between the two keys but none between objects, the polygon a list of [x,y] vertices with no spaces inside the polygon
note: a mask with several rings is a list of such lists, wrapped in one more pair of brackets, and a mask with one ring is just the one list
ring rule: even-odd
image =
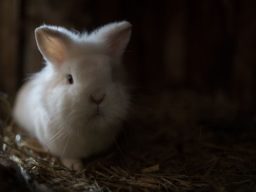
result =
[{"label": "rabbit's shaded ear on the right, beside the dark wall", "polygon": [[111,57],[122,56],[132,33],[132,25],[127,21],[107,24],[95,31],[93,35],[108,44]]}]

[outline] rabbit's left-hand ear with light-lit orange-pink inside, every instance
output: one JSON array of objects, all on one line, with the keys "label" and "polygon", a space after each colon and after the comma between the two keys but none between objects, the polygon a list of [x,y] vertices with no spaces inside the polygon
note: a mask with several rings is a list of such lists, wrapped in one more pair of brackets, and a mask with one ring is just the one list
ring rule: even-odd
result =
[{"label": "rabbit's left-hand ear with light-lit orange-pink inside", "polygon": [[69,36],[56,27],[42,26],[35,29],[35,39],[41,54],[53,65],[66,59]]}]

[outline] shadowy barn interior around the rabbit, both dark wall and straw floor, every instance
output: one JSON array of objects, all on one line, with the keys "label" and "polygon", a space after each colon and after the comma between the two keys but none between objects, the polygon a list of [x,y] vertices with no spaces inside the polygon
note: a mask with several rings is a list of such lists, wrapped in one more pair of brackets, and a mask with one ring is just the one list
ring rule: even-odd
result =
[{"label": "shadowy barn interior around the rabbit, both dark wall and straw floor", "polygon": [[[239,0],[1,1],[0,191],[255,191],[255,10]],[[43,66],[35,28],[121,20],[133,25],[124,131],[84,170],[66,170],[10,117]]]}]

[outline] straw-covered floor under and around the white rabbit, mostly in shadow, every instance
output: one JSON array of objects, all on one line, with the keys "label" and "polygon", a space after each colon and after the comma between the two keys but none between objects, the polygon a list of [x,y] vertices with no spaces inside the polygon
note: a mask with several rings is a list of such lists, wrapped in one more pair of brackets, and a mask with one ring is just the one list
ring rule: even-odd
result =
[{"label": "straw-covered floor under and around the white rabbit, mostly in shadow", "polygon": [[83,170],[4,126],[0,191],[256,191],[256,126],[236,118],[236,103],[189,91],[135,98],[137,118]]}]

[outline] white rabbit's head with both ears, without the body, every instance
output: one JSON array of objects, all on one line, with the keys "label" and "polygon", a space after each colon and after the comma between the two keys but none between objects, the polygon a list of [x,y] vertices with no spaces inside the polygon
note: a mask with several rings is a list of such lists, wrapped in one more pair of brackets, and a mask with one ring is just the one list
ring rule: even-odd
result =
[{"label": "white rabbit's head with both ears, without the body", "polygon": [[87,131],[120,126],[129,103],[121,56],[130,34],[131,24],[125,21],[82,34],[47,25],[35,30],[46,61],[37,83],[46,90],[43,105],[55,126],[65,123]]}]

